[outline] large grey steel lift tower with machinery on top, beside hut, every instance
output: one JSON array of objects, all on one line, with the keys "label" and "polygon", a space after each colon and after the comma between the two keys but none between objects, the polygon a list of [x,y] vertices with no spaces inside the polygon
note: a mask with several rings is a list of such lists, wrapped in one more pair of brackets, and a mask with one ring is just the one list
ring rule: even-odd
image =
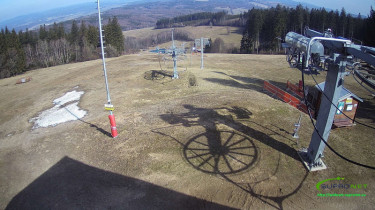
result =
[{"label": "large grey steel lift tower with machinery on top, beside hut", "polygon": [[[302,71],[310,71],[321,63],[328,64],[328,72],[324,87],[324,95],[319,111],[316,129],[312,134],[310,145],[299,152],[304,164],[310,171],[326,168],[322,158],[323,151],[328,141],[334,115],[337,112],[339,94],[344,83],[345,69],[353,60],[353,56],[374,65],[375,56],[371,52],[374,48],[353,44],[348,39],[333,38],[332,33],[319,33],[306,29],[306,36],[289,32],[285,37],[286,46],[289,48],[287,60],[301,66]],[[324,55],[324,49],[329,51],[329,56]],[[306,93],[305,93],[306,94]],[[308,104],[306,104],[308,105]],[[324,107],[324,108],[323,108]]]}]

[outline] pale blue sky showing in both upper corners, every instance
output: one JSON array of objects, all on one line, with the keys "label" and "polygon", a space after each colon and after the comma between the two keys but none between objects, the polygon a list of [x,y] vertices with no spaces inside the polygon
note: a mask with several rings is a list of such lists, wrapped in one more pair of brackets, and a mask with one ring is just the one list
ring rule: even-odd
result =
[{"label": "pale blue sky showing in both upper corners", "polygon": [[[103,0],[102,2],[104,2]],[[368,15],[370,6],[375,8],[375,0],[295,0],[308,2],[317,6],[338,9],[344,7],[347,12]],[[12,17],[40,12],[61,6],[68,6],[83,2],[95,2],[95,0],[0,0],[0,21]],[[124,0],[124,3],[127,0]]]}]

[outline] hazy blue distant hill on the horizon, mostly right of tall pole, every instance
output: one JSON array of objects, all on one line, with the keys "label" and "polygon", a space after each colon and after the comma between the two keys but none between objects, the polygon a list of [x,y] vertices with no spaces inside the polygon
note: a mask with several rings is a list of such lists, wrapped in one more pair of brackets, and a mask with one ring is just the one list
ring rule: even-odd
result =
[{"label": "hazy blue distant hill on the horizon, mostly right of tall pole", "polygon": [[[108,20],[109,17],[116,16],[122,29],[126,31],[154,27],[156,22],[163,18],[220,11],[236,15],[252,8],[276,7],[277,4],[295,7],[298,3],[292,0],[155,0],[107,10],[103,13],[103,18]],[[96,16],[87,16],[82,19],[91,24],[97,21]]]}]

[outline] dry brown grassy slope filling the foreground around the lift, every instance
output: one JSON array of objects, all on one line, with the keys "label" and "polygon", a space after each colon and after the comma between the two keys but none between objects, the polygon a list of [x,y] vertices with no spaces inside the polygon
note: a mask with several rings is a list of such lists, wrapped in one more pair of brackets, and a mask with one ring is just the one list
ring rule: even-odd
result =
[{"label": "dry brown grassy slope filling the foreground around the lift", "polygon": [[[297,141],[300,112],[262,90],[263,80],[285,86],[300,79],[284,56],[207,54],[204,70],[199,61],[179,62],[180,79],[172,80],[172,63],[159,65],[154,54],[108,59],[116,139],[103,106],[101,60],[0,80],[0,209],[373,208],[374,170],[328,148],[328,169],[308,172],[301,163],[296,151],[313,132],[307,115]],[[307,83],[314,84],[310,77]],[[365,100],[357,119],[375,126],[373,97],[351,77],[345,84]],[[32,130],[31,118],[77,86],[88,115]],[[375,130],[356,125],[333,130],[329,142],[375,165],[374,137]],[[367,187],[321,192],[367,196],[318,197],[316,184],[338,176]]]}]

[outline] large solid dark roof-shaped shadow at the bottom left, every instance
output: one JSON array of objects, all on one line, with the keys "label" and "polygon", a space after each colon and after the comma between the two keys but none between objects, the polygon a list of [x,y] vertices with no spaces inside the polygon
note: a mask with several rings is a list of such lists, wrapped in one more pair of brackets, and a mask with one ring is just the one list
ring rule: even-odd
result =
[{"label": "large solid dark roof-shaped shadow at the bottom left", "polygon": [[11,209],[232,209],[64,157],[18,193]]}]

